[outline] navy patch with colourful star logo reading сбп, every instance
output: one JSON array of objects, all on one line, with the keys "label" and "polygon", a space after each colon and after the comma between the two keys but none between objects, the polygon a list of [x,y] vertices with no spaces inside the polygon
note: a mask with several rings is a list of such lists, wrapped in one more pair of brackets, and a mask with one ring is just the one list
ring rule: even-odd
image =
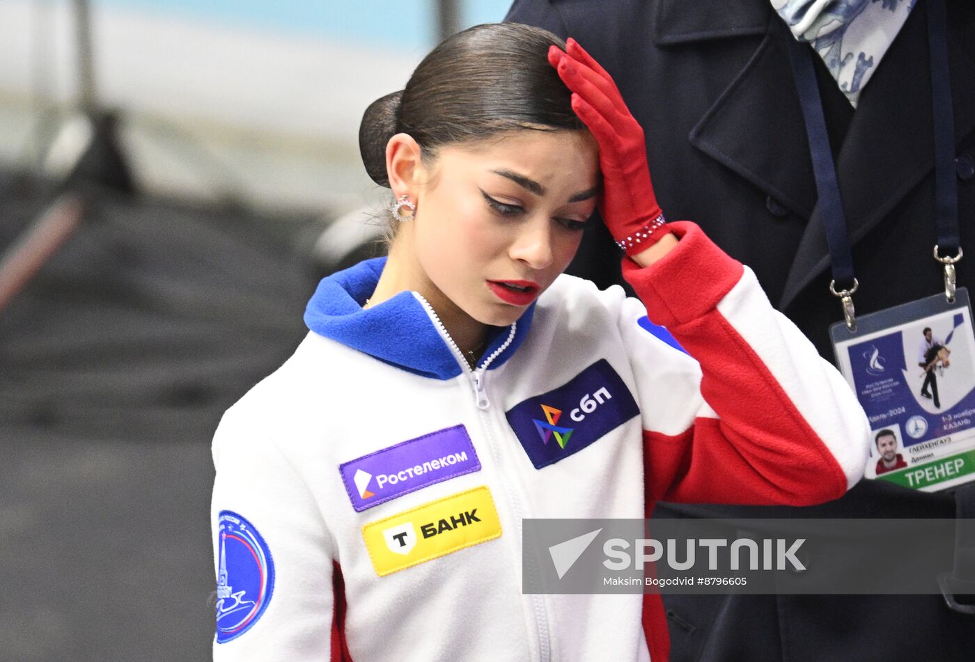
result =
[{"label": "navy patch with colourful star logo reading \u0441\u0431\u043f", "polygon": [[586,448],[640,413],[630,390],[601,359],[564,386],[516,405],[508,423],[535,469]]}]

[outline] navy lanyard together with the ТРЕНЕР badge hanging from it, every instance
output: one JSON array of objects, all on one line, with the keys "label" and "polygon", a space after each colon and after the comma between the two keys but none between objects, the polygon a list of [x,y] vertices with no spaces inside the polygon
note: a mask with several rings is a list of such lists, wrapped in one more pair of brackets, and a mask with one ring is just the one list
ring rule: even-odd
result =
[{"label": "navy lanyard together with the \u0422\u0420\u0415\u041d\u0415\u0420 badge hanging from it", "polygon": [[816,54],[788,41],[832,261],[830,292],[839,296],[845,318],[845,324],[831,326],[830,336],[837,366],[867,412],[875,438],[865,477],[924,491],[972,484],[975,498],[975,325],[968,291],[956,289],[961,248],[945,0],[929,0],[927,10],[934,258],[944,269],[945,289],[859,318],[853,308],[859,283],[813,69]]}]

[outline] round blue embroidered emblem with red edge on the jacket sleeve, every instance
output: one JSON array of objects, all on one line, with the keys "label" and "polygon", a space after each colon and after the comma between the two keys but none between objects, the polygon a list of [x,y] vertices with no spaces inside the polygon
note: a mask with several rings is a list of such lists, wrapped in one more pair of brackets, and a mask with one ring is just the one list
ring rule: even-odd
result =
[{"label": "round blue embroidered emblem with red edge on the jacket sleeve", "polygon": [[250,522],[229,510],[217,520],[216,643],[251,629],[274,591],[274,562],[267,543]]}]

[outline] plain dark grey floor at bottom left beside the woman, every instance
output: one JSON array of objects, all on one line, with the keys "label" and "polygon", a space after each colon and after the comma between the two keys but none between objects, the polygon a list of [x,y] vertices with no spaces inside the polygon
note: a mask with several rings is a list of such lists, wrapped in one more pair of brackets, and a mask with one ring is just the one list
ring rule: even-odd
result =
[{"label": "plain dark grey floor at bottom left beside the woman", "polygon": [[0,659],[209,659],[208,445],[3,429],[0,448]]}]

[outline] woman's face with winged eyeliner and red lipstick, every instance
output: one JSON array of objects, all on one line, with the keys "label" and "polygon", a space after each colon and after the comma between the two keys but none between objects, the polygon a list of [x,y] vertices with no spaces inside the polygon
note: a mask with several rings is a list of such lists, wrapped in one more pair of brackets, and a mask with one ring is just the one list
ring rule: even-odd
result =
[{"label": "woman's face with winged eyeliner and red lipstick", "polygon": [[515,131],[443,147],[417,180],[416,215],[401,234],[427,281],[420,293],[438,311],[507,326],[579,248],[599,152],[588,132]]}]

